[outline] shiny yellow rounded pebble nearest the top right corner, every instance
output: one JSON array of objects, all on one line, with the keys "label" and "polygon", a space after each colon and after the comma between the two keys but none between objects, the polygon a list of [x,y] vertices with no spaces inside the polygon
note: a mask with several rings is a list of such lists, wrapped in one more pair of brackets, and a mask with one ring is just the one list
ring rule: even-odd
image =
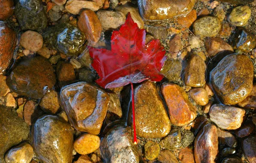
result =
[{"label": "shiny yellow rounded pebble nearest the top right corner", "polygon": [[232,9],[229,15],[229,23],[235,26],[245,26],[251,17],[251,9],[249,6],[237,6]]}]

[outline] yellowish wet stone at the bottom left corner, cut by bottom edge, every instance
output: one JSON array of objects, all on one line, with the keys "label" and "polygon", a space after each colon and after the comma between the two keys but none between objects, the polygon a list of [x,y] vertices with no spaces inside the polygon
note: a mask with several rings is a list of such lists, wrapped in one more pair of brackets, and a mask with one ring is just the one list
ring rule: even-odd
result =
[{"label": "yellowish wet stone at the bottom left corner, cut by bottom edge", "polygon": [[34,155],[33,147],[28,143],[22,143],[11,148],[5,154],[6,163],[30,163]]}]

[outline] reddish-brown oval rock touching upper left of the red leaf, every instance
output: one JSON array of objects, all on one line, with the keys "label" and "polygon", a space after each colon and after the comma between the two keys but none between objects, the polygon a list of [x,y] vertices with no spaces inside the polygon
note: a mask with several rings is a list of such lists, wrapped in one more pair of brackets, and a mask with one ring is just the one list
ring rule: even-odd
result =
[{"label": "reddish-brown oval rock touching upper left of the red leaf", "polygon": [[90,9],[84,10],[78,21],[79,29],[85,34],[89,44],[96,44],[101,37],[101,22],[94,11]]}]

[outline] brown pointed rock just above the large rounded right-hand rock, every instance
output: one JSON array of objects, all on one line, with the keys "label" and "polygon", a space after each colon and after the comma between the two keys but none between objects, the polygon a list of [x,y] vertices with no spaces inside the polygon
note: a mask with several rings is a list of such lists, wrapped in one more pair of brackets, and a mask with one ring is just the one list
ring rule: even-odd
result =
[{"label": "brown pointed rock just above the large rounded right-hand rock", "polygon": [[231,45],[219,37],[207,37],[205,48],[210,57],[215,56],[220,51],[234,51]]}]

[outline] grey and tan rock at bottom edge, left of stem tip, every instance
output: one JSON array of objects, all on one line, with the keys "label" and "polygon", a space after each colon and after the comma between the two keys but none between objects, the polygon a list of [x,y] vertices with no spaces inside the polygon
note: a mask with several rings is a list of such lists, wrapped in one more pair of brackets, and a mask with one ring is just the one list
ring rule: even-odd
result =
[{"label": "grey and tan rock at bottom edge, left of stem tip", "polygon": [[112,128],[101,141],[101,156],[106,163],[139,163],[140,155],[133,143],[131,128]]}]

